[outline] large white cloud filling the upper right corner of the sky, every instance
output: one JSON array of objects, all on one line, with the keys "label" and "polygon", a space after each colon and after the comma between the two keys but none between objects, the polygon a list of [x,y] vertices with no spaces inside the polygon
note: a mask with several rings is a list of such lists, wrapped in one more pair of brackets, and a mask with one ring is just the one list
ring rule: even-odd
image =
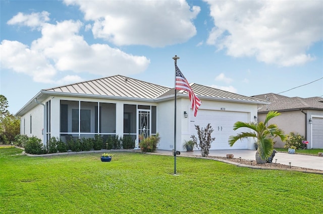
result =
[{"label": "large white cloud filling the upper right corner of the sky", "polygon": [[321,1],[204,1],[215,25],[207,43],[228,55],[282,66],[315,59],[306,51],[323,39]]}]

